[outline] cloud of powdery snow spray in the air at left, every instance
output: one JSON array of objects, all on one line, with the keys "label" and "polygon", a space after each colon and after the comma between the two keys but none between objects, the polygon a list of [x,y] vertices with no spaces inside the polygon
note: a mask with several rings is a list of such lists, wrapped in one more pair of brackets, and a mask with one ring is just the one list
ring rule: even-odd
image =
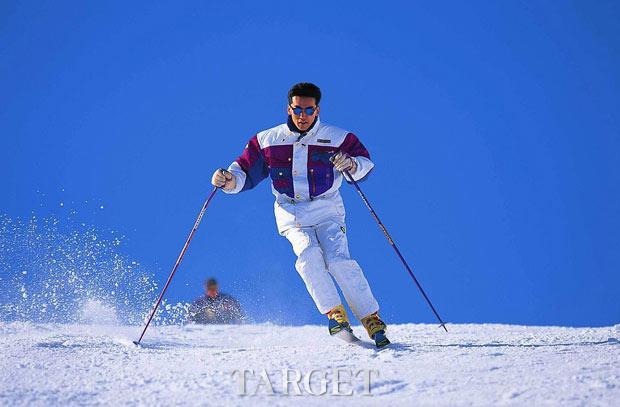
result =
[{"label": "cloud of powdery snow spray in the air at left", "polygon": [[[158,291],[154,275],[123,253],[125,236],[75,213],[0,215],[0,320],[143,323]],[[154,321],[182,322],[187,309],[163,303]]]}]

